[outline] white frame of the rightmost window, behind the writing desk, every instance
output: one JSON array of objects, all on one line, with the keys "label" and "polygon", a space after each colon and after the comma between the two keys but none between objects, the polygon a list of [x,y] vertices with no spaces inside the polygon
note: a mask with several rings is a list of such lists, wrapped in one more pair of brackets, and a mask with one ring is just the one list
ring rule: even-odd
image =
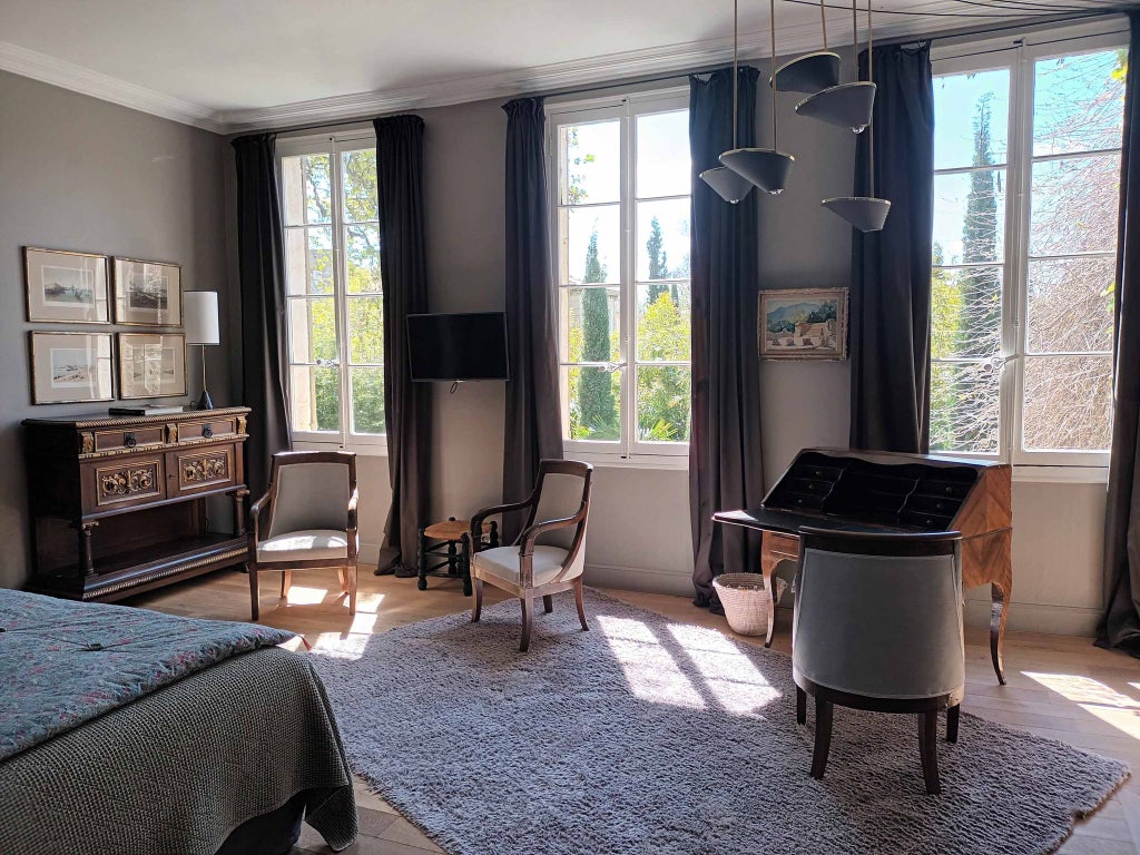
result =
[{"label": "white frame of the rightmost window, behind the writing desk", "polygon": [[[1033,164],[1062,156],[1033,156],[1034,67],[1037,59],[1059,54],[1083,54],[1127,47],[1127,24],[1108,18],[1091,24],[1049,28],[1017,36],[952,43],[931,51],[934,75],[1008,68],[1010,72],[1009,128],[1004,163],[987,169],[1005,170],[1005,234],[1002,268],[1002,347],[997,359],[1000,376],[999,451],[979,454],[938,451],[954,457],[1012,463],[1017,480],[1092,481],[1106,480],[1109,451],[1027,450],[1023,446],[1024,378],[1028,353],[1028,243]],[[935,117],[937,123],[937,116]],[[1118,150],[1118,149],[1106,149]],[[1076,152],[1064,157],[1084,157],[1098,152]],[[968,168],[935,170],[935,174],[969,172]],[[1049,258],[1088,258],[1074,253]],[[1097,353],[1100,355],[1099,352]],[[1042,356],[1035,353],[1032,356]],[[1048,356],[1048,355],[1044,355]],[[1081,356],[1065,353],[1064,356]],[[952,363],[950,360],[938,360]],[[974,361],[974,360],[964,360]]]}]

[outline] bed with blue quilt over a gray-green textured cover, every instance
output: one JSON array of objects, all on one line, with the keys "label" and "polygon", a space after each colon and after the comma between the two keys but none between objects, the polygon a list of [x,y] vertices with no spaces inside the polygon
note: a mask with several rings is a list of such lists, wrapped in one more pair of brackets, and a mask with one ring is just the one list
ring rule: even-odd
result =
[{"label": "bed with blue quilt over a gray-green textured cover", "polygon": [[0,852],[276,855],[357,833],[320,679],[270,627],[0,591]]}]

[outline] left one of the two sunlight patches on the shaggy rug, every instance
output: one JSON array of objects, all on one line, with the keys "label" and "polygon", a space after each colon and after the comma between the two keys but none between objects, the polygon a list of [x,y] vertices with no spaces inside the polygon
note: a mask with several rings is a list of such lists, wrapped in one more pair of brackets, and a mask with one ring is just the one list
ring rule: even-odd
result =
[{"label": "left one of the two sunlight patches on the shaggy rug", "polygon": [[634,695],[654,703],[705,709],[700,692],[645,624],[606,614],[597,616],[595,621]]}]

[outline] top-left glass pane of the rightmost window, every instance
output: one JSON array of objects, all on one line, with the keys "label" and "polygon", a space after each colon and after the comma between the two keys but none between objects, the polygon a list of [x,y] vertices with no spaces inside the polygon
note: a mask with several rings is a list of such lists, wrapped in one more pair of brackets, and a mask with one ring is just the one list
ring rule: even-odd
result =
[{"label": "top-left glass pane of the rightmost window", "polygon": [[[934,80],[934,168],[1004,163],[1009,136],[1009,70]],[[970,116],[970,121],[963,121]]]}]

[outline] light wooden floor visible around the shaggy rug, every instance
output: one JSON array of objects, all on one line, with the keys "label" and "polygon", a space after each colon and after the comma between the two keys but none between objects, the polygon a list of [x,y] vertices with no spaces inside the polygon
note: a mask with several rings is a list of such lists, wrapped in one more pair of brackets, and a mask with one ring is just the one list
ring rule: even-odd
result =
[{"label": "light wooden floor visible around the shaggy rug", "polygon": [[[350,618],[336,591],[335,573],[294,572],[288,604],[278,604],[275,577],[261,584],[261,622],[300,633],[314,645],[347,634],[383,633],[396,626],[470,609],[459,583],[432,579],[426,592],[414,579],[375,577],[360,570],[357,614]],[[684,597],[608,592],[626,602],[732,635],[724,618],[695,609]],[[503,597],[488,588],[488,602]],[[233,570],[171,586],[128,601],[172,614],[249,620],[247,577]],[[779,650],[790,652],[789,614],[781,610]],[[748,643],[755,638],[733,636]],[[1123,653],[1098,650],[1088,638],[1010,633],[1005,638],[1009,685],[999,686],[990,666],[987,636],[967,629],[964,709],[994,722],[1062,740],[1116,757],[1135,769],[1131,779],[1096,815],[1077,824],[1060,849],[1066,855],[1140,853],[1140,662]],[[963,723],[964,726],[964,723]],[[804,758],[807,774],[809,758]],[[918,755],[915,752],[915,774]],[[347,849],[352,855],[424,855],[441,849],[383,799],[357,780],[361,834]],[[320,837],[306,826],[295,855],[328,853]]]}]

